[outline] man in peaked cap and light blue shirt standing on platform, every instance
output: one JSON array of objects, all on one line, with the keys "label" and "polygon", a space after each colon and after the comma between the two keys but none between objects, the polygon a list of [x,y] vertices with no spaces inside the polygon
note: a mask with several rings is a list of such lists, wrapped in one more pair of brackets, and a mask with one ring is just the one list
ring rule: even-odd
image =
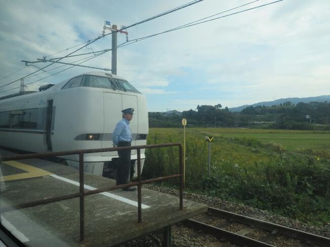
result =
[{"label": "man in peaked cap and light blue shirt standing on platform", "polygon": [[[132,134],[129,128],[129,121],[133,119],[133,108],[122,110],[122,120],[116,125],[113,131],[112,140],[114,147],[129,147],[132,141]],[[130,177],[130,150],[118,151],[118,166],[116,184],[122,185],[129,183]],[[123,188],[125,191],[134,191],[135,187]]]}]

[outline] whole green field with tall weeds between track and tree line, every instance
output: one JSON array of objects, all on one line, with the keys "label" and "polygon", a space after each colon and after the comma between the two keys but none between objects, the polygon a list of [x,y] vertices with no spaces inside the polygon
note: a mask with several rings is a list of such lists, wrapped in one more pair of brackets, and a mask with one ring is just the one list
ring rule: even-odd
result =
[{"label": "whole green field with tall weeds between track and tree line", "polygon": [[[210,177],[205,136],[214,136]],[[183,143],[182,128],[150,129],[148,144],[171,142]],[[330,221],[330,131],[186,128],[185,163],[187,190],[311,224]],[[145,178],[176,172],[177,148],[147,150]]]}]

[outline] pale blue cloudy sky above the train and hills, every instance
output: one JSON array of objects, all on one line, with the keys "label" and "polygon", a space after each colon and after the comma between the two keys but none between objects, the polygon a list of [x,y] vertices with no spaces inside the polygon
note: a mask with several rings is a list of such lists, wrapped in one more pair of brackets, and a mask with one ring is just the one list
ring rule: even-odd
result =
[{"label": "pale blue cloudy sky above the train and hills", "polygon": [[[21,60],[65,56],[74,51],[65,49],[100,36],[106,20],[127,26],[191,1],[0,0],[0,96],[18,92],[19,88],[10,89],[19,87],[20,81],[1,86],[38,70],[25,66]],[[259,0],[222,15],[273,1]],[[249,2],[252,0],[204,0],[128,28],[128,39],[171,29]],[[330,1],[284,0],[118,48],[117,75],[146,95],[150,112],[195,110],[198,104],[221,103],[230,108],[278,98],[329,95],[329,30]],[[125,40],[126,36],[118,33],[118,44]],[[109,48],[110,35],[79,52]],[[65,51],[49,56],[62,50]],[[81,58],[84,57],[62,61]],[[35,63],[38,67],[48,64]],[[111,68],[111,52],[83,65]],[[97,71],[73,67],[49,77],[68,67],[33,74],[34,77],[25,79],[25,84],[40,81],[28,85],[26,90],[38,90],[41,85]],[[18,69],[21,70],[12,74]]]}]

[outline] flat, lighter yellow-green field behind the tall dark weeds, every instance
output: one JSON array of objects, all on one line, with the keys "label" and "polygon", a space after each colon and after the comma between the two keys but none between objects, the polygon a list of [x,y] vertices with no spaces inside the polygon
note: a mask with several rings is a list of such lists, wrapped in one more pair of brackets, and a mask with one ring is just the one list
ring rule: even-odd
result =
[{"label": "flat, lighter yellow-green field behind the tall dark weeds", "polygon": [[[187,145],[198,142],[205,149],[205,136],[214,136],[211,149],[214,158],[225,159],[226,156],[227,160],[235,163],[268,160],[269,155],[273,158],[274,154],[283,152],[330,159],[330,131],[186,128]],[[183,143],[183,129],[151,128],[148,143],[159,142]]]}]

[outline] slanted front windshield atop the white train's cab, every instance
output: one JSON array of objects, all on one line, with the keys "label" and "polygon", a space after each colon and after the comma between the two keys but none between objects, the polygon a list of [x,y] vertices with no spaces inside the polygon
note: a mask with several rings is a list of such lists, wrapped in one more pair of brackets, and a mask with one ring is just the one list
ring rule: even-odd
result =
[{"label": "slanted front windshield atop the white train's cab", "polygon": [[97,87],[97,88],[108,88],[113,90],[128,91],[134,93],[140,93],[135,87],[130,85],[127,81],[100,77],[100,76],[84,76],[81,87]]}]

